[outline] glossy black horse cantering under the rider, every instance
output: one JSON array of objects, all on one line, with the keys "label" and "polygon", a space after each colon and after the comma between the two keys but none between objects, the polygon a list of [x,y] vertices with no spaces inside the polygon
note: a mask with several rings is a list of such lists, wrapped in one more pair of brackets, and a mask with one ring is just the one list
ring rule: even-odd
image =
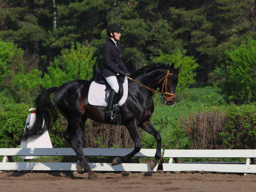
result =
[{"label": "glossy black horse cantering under the rider", "polygon": [[[174,64],[171,66],[156,64],[143,67],[131,75],[135,81],[140,82],[149,89],[146,89],[137,82],[130,80],[128,82],[128,98],[120,106],[120,113],[123,124],[133,139],[135,148],[126,156],[113,159],[112,165],[127,162],[140,151],[142,145],[138,130],[139,127],[152,134],[156,139],[155,159],[150,161],[150,168],[154,169],[161,159],[161,136],[150,122],[151,115],[154,111],[152,96],[155,92],[154,90],[159,88],[159,92],[164,97],[164,104],[173,105],[179,69],[181,69],[181,66],[175,69]],[[92,178],[95,174],[90,169],[88,160],[82,151],[85,121],[87,118],[90,118],[100,123],[117,124],[117,122],[116,120],[105,118],[106,107],[90,105],[88,103],[90,84],[91,81],[74,80],[62,84],[60,87],[51,87],[38,95],[35,102],[36,121],[26,136],[34,139],[44,133],[47,128],[50,128],[51,122],[56,120],[57,110],[59,110],[68,121],[64,138],[77,154],[79,159],[77,170],[78,172],[82,172],[82,169],[84,169],[84,171],[88,172],[89,178]],[[55,106],[50,100],[50,94],[52,92],[55,92]],[[42,127],[44,120],[45,126]]]}]

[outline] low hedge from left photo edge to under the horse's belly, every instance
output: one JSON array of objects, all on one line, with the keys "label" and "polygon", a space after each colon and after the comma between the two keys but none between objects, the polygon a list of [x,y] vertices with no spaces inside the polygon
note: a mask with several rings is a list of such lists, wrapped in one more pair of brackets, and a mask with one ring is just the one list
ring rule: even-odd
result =
[{"label": "low hedge from left photo edge to under the horse's belly", "polygon": [[[28,109],[26,104],[8,104],[0,108],[0,148],[20,146]],[[54,125],[48,130],[53,147],[70,147],[64,139],[67,120],[59,115]],[[84,147],[133,148],[133,141],[125,126],[107,125],[87,120],[84,131]]]}]

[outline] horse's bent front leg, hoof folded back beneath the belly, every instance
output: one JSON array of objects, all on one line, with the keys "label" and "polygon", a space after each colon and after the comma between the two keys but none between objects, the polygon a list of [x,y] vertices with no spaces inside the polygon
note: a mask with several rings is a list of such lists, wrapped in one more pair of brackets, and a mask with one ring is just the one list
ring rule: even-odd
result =
[{"label": "horse's bent front leg, hoof folded back beneath the belly", "polygon": [[126,156],[123,157],[116,157],[115,159],[113,159],[112,161],[112,165],[118,165],[121,163],[125,163],[127,161],[129,161],[131,159],[131,157],[133,157],[136,153],[138,153],[141,150],[141,139],[140,139],[140,134],[138,132],[138,126],[136,125],[136,123],[130,123],[129,125],[126,126],[130,136],[133,140],[134,143],[134,150],[131,151],[131,153],[127,154]]}]

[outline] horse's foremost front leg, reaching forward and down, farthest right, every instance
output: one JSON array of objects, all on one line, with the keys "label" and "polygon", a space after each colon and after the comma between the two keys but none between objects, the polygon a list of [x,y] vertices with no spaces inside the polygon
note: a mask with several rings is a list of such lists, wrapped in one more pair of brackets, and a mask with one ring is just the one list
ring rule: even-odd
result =
[{"label": "horse's foremost front leg, reaching forward and down, farthest right", "polygon": [[156,131],[156,129],[154,128],[154,126],[152,125],[152,123],[148,120],[145,121],[144,123],[142,123],[140,125],[140,127],[145,130],[146,132],[150,133],[151,135],[154,136],[154,138],[156,139],[156,154],[155,154],[155,159],[150,161],[150,169],[153,170],[156,166],[156,164],[159,161],[164,161],[164,159],[162,159],[162,154],[161,154],[161,141],[162,138],[160,136],[160,133],[158,131]]}]

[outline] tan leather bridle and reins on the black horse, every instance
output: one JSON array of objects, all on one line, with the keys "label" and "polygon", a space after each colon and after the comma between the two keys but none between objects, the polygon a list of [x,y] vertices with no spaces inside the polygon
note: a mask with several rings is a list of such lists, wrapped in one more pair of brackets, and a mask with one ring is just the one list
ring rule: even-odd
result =
[{"label": "tan leather bridle and reins on the black horse", "polygon": [[[161,90],[161,91],[160,91],[160,90],[157,90],[158,92],[156,92],[154,89],[151,89],[151,88],[149,88],[149,87],[146,87],[145,85],[143,85],[143,84],[137,82],[136,80],[132,79],[131,77],[128,77],[127,75],[125,75],[125,77],[127,77],[128,79],[130,79],[130,80],[132,80],[132,81],[138,83],[139,85],[141,85],[141,86],[147,88],[148,90],[151,90],[152,92],[157,93],[158,95],[162,95],[163,98],[164,98],[164,100],[167,100],[167,99],[170,99],[170,98],[174,98],[174,97],[175,97],[174,94],[167,92],[167,79],[168,79],[168,75],[173,75],[172,73],[169,73],[169,72],[170,72],[170,70],[168,70],[168,72],[166,73],[166,75],[164,75],[164,77],[163,77],[162,79],[160,79],[160,81],[157,83],[157,84],[159,84],[159,83],[164,79],[164,83],[162,84],[162,90]],[[179,76],[179,75],[178,75],[178,76]],[[164,87],[165,87],[165,92],[164,92]],[[161,94],[160,94],[159,92],[160,92]],[[170,95],[170,97],[166,97],[166,95]]]}]

